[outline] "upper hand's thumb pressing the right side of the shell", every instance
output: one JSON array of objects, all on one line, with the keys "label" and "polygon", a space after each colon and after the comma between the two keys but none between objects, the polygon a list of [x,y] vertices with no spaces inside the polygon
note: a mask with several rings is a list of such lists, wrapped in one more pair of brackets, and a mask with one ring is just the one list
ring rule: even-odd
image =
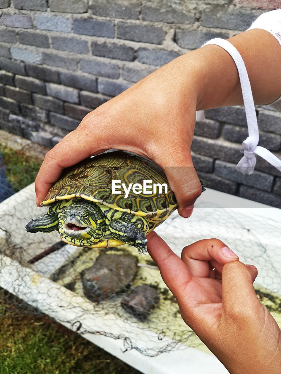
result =
[{"label": "upper hand's thumb pressing the right side of the shell", "polygon": [[171,166],[162,168],[176,195],[178,212],[182,217],[190,217],[194,203],[202,193],[202,186],[194,169],[190,151],[185,148],[181,152],[173,152],[170,154],[169,165]]}]

